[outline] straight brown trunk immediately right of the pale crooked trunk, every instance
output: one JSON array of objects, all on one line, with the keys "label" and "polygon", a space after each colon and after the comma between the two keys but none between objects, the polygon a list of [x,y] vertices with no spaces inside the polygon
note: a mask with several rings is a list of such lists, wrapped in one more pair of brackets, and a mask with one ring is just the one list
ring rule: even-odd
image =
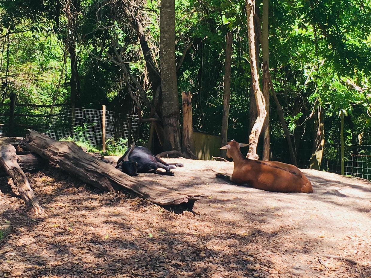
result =
[{"label": "straight brown trunk immediately right of the pale crooked trunk", "polygon": [[263,52],[263,95],[265,99],[265,110],[267,115],[263,125],[263,157],[269,160],[269,29],[268,29],[268,5],[269,0],[263,0],[263,24],[262,24],[262,52]]}]

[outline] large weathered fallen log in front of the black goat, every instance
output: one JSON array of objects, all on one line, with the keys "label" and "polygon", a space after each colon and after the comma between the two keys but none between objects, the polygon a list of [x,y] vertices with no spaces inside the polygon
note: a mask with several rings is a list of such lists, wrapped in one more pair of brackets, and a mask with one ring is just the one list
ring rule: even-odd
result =
[{"label": "large weathered fallen log in front of the black goat", "polygon": [[158,205],[180,205],[193,203],[203,195],[176,192],[150,182],[141,182],[119,171],[111,164],[85,153],[74,142],[56,141],[52,138],[30,131],[24,147],[42,158],[58,164],[65,171],[79,177],[82,181],[103,190],[126,189],[144,198],[150,198]]}]

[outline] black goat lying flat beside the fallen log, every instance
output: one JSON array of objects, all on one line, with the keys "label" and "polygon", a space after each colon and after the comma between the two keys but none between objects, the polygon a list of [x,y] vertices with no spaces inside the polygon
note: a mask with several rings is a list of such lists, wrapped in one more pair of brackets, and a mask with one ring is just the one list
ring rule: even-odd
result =
[{"label": "black goat lying flat beside the fallen log", "polygon": [[[137,173],[155,173],[160,175],[174,176],[170,169],[183,167],[182,163],[167,163],[158,156],[155,156],[145,147],[131,145],[121,158],[117,161],[116,168],[130,175],[136,176]],[[166,172],[157,171],[158,168],[165,169]]]}]

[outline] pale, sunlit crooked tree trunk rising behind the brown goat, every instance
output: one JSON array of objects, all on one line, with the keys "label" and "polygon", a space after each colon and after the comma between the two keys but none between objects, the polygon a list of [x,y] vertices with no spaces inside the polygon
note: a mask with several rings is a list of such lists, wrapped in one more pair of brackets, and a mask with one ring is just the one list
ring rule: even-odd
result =
[{"label": "pale, sunlit crooked tree trunk rising behind the brown goat", "polygon": [[256,57],[255,57],[255,32],[254,32],[254,19],[252,9],[254,7],[254,0],[246,0],[247,10],[247,35],[249,38],[249,53],[250,53],[250,69],[253,79],[253,89],[256,101],[257,118],[249,136],[249,152],[247,158],[258,159],[256,154],[257,142],[259,140],[260,132],[262,131],[264,119],[267,114],[265,110],[265,99],[259,87],[259,74],[257,72]]}]

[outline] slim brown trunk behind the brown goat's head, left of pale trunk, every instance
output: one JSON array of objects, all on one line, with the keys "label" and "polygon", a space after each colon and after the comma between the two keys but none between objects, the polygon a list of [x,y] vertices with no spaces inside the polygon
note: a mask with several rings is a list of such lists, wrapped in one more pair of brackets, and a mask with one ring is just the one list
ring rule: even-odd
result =
[{"label": "slim brown trunk behind the brown goat's head, left of pale trunk", "polygon": [[[227,32],[226,36],[226,61],[224,64],[224,95],[223,95],[223,118],[221,120],[221,145],[227,144],[229,99],[231,94],[231,60],[232,60],[233,33]],[[220,156],[226,158],[226,152],[220,150]]]}]

